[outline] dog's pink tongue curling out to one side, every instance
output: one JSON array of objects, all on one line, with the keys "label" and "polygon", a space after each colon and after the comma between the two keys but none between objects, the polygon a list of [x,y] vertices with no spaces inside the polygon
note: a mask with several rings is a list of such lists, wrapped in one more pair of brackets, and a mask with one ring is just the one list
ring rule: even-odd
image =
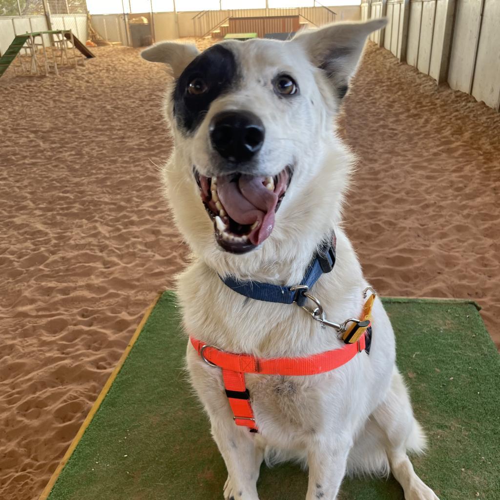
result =
[{"label": "dog's pink tongue curling out to one side", "polygon": [[277,195],[269,191],[263,182],[264,177],[251,175],[217,177],[217,194],[229,217],[238,224],[258,221],[248,234],[248,239],[254,245],[260,244],[271,233],[278,201]]}]

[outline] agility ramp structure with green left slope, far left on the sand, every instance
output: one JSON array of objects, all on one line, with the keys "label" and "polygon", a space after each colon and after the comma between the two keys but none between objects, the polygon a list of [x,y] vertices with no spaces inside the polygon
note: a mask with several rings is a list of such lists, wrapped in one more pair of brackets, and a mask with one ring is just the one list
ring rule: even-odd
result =
[{"label": "agility ramp structure with green left slope, far left on the sand", "polygon": [[[50,37],[47,45],[45,37]],[[76,53],[76,50],[79,53]],[[93,53],[76,38],[70,29],[54,29],[16,35],[0,57],[0,76],[12,64],[15,74],[58,75],[58,67],[83,65]]]}]

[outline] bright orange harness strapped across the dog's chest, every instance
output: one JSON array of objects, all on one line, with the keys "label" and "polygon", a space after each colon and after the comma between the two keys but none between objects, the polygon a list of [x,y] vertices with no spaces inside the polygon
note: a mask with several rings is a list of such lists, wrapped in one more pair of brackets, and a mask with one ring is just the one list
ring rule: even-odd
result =
[{"label": "bright orange harness strapped across the dog's chest", "polygon": [[[201,358],[210,366],[222,369],[225,393],[233,413],[234,423],[248,427],[250,432],[258,432],[250,403],[250,394],[245,385],[245,373],[263,375],[315,375],[334,370],[363,350],[369,354],[372,328],[371,307],[375,295],[372,294],[363,306],[362,322],[353,323],[342,335],[346,345],[308,357],[278,357],[265,359],[249,354],[233,354],[207,345],[189,337],[191,344]],[[362,326],[361,326],[362,324]]]}]

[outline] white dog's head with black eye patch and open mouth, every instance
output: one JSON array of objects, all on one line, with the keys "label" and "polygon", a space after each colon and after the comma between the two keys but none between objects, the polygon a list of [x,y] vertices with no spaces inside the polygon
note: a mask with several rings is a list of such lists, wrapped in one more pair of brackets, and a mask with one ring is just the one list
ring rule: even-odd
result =
[{"label": "white dog's head with black eye patch and open mouth", "polygon": [[[197,252],[245,253],[300,236],[308,205],[318,201],[306,199],[314,197],[311,182],[316,193],[324,189],[318,183],[329,184],[318,173],[333,117],[366,37],[384,24],[337,23],[285,42],[223,41],[202,53],[171,42],[142,52],[174,76],[165,101],[175,145],[166,180],[177,224]],[[340,203],[330,195],[323,211]]]}]

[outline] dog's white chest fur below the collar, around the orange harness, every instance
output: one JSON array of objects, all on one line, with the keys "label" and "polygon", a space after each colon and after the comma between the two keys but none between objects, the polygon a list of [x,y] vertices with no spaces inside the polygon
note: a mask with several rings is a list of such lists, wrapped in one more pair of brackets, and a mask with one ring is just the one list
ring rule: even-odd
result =
[{"label": "dog's white chest fur below the collar, around the orange harness", "polygon": [[[323,275],[315,287],[327,317],[343,321],[355,317],[362,307],[364,281],[359,264],[348,248],[342,232],[338,234],[338,266]],[[349,255],[352,255],[350,257]],[[344,260],[342,263],[342,257]],[[179,278],[179,297],[183,306],[186,332],[207,344],[229,352],[251,352],[260,357],[307,356],[340,347],[335,330],[321,328],[295,304],[276,304],[246,298],[226,287],[204,264],[192,264]],[[311,433],[342,432],[348,414],[362,418],[364,411],[351,411],[359,398],[369,401],[368,384],[363,378],[377,364],[366,354],[343,367],[314,376],[281,377],[245,375],[255,416],[265,439],[283,447],[300,447]],[[193,385],[210,411],[223,418],[229,411],[221,371],[206,365],[188,345],[187,363]],[[357,389],[356,397],[350,394]],[[366,394],[363,392],[365,391]],[[348,426],[356,425],[356,418]]]}]

